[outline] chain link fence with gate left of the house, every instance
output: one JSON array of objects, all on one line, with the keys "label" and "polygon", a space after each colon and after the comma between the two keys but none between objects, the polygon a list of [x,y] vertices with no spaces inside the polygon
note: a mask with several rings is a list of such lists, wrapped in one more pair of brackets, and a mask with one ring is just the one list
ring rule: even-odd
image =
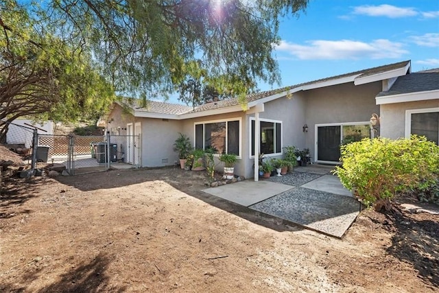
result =
[{"label": "chain link fence with gate left of the house", "polygon": [[77,136],[38,131],[42,132],[3,120],[0,124],[0,145],[19,154],[24,164],[27,161],[31,175],[48,165],[57,165],[70,175],[141,166],[140,135]]}]

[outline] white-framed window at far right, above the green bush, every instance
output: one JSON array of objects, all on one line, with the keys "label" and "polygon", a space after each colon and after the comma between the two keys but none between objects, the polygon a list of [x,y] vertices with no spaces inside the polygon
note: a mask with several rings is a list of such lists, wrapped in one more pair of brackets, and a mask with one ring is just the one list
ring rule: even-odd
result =
[{"label": "white-framed window at far right, above the green bush", "polygon": [[439,144],[439,108],[407,110],[405,115],[405,137],[416,134]]}]

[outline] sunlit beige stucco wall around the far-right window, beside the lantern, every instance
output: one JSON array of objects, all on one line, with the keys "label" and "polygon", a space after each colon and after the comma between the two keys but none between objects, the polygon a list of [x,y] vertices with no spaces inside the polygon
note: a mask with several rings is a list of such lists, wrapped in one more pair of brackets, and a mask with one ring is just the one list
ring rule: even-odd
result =
[{"label": "sunlit beige stucco wall around the far-right window, beside the lantern", "polygon": [[389,139],[405,137],[405,110],[436,107],[439,107],[439,97],[438,99],[430,99],[420,102],[381,105],[381,137],[387,137]]}]

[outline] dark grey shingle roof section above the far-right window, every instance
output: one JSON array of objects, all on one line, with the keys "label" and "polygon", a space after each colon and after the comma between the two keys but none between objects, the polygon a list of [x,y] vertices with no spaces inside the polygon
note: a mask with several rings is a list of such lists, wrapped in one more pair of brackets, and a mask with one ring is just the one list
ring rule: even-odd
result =
[{"label": "dark grey shingle roof section above the far-right window", "polygon": [[439,90],[439,69],[430,69],[400,76],[389,91],[382,91],[377,97]]}]

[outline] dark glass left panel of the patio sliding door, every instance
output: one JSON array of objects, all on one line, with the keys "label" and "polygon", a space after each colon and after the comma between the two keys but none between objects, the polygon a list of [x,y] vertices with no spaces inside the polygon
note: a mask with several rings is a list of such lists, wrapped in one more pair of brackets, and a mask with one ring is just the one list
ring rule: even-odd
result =
[{"label": "dark glass left panel of the patio sliding door", "polygon": [[317,160],[340,161],[341,126],[319,126],[317,128]]}]

